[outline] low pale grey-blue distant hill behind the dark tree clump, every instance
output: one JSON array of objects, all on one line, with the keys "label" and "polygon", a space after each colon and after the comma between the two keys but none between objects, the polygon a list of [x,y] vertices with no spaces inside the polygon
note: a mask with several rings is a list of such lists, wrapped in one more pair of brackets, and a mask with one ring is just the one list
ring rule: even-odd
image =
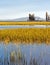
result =
[{"label": "low pale grey-blue distant hill behind the dark tree clump", "polygon": [[[40,17],[35,17],[36,21],[45,21],[45,19]],[[16,19],[7,19],[7,20],[0,20],[0,21],[29,21],[29,17],[22,17],[22,18],[16,18]]]}]

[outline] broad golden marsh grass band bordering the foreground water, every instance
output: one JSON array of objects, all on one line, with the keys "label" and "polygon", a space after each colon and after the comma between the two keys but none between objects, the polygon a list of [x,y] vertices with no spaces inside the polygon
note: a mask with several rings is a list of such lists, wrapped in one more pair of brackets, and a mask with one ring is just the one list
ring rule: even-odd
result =
[{"label": "broad golden marsh grass band bordering the foreground water", "polygon": [[1,29],[0,41],[17,43],[50,44],[50,28]]}]

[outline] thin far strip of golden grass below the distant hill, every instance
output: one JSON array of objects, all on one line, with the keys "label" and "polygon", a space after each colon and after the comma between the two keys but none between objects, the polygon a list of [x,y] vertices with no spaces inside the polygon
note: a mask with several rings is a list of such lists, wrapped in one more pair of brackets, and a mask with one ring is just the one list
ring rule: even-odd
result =
[{"label": "thin far strip of golden grass below the distant hill", "polygon": [[50,22],[46,21],[25,21],[25,22],[15,22],[15,21],[0,21],[0,25],[50,25]]}]

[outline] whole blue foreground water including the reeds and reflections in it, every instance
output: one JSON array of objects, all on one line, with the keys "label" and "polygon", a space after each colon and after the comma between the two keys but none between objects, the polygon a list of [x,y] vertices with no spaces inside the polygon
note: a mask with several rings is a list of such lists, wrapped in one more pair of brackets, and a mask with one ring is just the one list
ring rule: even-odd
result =
[{"label": "whole blue foreground water including the reeds and reflections in it", "polygon": [[50,65],[50,46],[0,44],[0,65]]}]

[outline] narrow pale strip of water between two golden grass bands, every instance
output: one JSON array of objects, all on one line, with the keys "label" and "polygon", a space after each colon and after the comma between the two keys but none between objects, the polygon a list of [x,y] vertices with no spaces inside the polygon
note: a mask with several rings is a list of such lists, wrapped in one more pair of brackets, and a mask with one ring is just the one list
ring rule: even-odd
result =
[{"label": "narrow pale strip of water between two golden grass bands", "polygon": [[7,28],[50,28],[50,25],[0,25],[0,29]]}]

